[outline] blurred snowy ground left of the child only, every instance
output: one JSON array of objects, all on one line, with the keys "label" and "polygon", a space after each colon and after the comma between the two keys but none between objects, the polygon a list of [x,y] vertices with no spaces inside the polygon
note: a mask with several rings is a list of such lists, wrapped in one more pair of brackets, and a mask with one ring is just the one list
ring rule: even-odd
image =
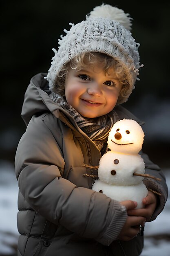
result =
[{"label": "blurred snowy ground left of the child only", "polygon": [[18,241],[16,215],[18,211],[18,183],[14,167],[0,162],[0,256],[13,255]]}]

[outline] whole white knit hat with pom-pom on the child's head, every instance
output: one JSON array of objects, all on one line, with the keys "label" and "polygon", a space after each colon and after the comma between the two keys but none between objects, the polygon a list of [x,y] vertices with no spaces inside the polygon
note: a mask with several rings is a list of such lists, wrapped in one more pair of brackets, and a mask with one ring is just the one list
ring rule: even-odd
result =
[{"label": "whole white knit hat with pom-pom on the child's head", "polygon": [[69,23],[71,29],[64,29],[66,36],[59,39],[58,51],[53,49],[55,56],[45,77],[49,81],[50,90],[55,88],[56,76],[63,65],[72,58],[85,52],[101,52],[121,63],[128,75],[129,94],[121,99],[119,104],[125,102],[134,88],[139,67],[143,66],[139,64],[139,43],[135,42],[130,33],[131,20],[129,14],[123,10],[102,4],[95,7],[90,15],[86,16],[86,20],[76,25]]}]

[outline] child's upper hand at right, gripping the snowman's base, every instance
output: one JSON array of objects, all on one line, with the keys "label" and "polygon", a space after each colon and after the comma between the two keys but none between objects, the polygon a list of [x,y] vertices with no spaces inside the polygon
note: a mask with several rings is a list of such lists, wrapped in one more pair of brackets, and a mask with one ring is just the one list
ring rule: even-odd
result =
[{"label": "child's upper hand at right, gripping the snowman's base", "polygon": [[143,204],[145,205],[145,208],[130,209],[127,212],[129,216],[143,216],[146,218],[146,222],[148,222],[157,206],[157,195],[148,191],[148,195],[143,199]]}]

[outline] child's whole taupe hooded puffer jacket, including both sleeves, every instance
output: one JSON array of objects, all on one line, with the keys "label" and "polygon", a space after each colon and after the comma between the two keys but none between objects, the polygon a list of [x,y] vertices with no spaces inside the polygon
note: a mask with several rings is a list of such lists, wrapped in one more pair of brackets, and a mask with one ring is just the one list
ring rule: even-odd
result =
[{"label": "child's whole taupe hooded puffer jacket, including both sleeves", "polygon": [[[143,236],[130,242],[117,240],[126,221],[125,208],[92,191],[93,180],[83,177],[91,170],[82,165],[98,165],[100,151],[50,99],[44,76],[41,73],[31,79],[22,108],[27,128],[15,157],[20,189],[18,256],[139,255]],[[120,106],[115,115],[115,121],[136,119]],[[162,178],[159,183],[146,180],[147,186],[162,193],[154,220],[166,202],[167,187],[159,167],[146,155],[142,157],[147,172]]]}]

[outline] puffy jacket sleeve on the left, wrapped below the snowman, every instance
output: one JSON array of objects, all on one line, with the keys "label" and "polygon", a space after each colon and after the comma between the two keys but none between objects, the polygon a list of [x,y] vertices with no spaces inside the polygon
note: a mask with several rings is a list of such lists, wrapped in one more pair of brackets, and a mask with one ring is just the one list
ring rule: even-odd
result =
[{"label": "puffy jacket sleeve on the left, wrapped below the snowman", "polygon": [[[61,132],[57,136],[61,137]],[[76,187],[62,177],[63,166],[61,145],[44,121],[33,117],[15,156],[15,172],[23,197],[32,209],[56,225],[110,245],[124,226],[126,208],[102,193]]]}]

